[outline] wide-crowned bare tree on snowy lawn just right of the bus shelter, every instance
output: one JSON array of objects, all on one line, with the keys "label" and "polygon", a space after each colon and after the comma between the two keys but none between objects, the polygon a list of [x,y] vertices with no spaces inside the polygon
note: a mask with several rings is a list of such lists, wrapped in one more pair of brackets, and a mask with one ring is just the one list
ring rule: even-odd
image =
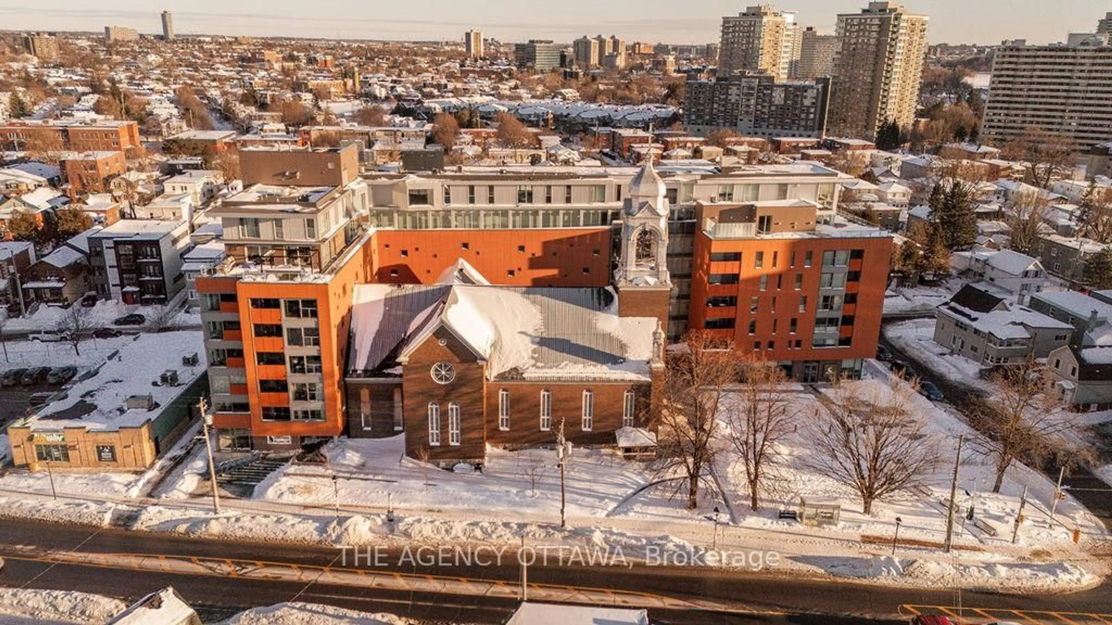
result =
[{"label": "wide-crowned bare tree on snowy lawn just right of the bus shelter", "polygon": [[936,446],[922,435],[914,394],[895,378],[890,386],[835,379],[808,427],[810,467],[853,488],[866,515],[874,502],[922,485],[934,468]]}]

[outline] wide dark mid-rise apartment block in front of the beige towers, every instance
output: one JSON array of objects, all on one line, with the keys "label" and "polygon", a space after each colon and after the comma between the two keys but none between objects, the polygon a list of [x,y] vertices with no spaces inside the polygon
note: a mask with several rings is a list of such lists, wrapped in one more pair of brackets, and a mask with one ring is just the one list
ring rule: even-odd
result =
[{"label": "wide dark mid-rise apartment block in front of the beige towers", "polygon": [[814,137],[826,130],[830,79],[776,82],[768,75],[688,81],[684,126],[696,135],[723,128],[746,137]]}]

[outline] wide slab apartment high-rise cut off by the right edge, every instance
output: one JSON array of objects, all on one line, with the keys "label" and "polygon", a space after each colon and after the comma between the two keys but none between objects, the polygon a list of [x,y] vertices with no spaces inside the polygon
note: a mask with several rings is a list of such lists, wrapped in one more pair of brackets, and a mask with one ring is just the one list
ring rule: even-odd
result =
[{"label": "wide slab apartment high-rise cut off by the right edge", "polygon": [[1005,41],[994,51],[981,136],[1004,142],[1027,128],[1088,150],[1112,139],[1112,46],[1099,32],[1075,44]]}]

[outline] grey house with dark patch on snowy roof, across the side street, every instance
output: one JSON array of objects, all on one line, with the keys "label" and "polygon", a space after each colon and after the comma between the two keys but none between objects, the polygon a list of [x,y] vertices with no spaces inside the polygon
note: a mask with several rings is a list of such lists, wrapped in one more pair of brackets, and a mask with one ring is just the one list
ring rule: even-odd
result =
[{"label": "grey house with dark patch on snowy roof, across the side street", "polygon": [[977,285],[965,285],[935,309],[934,341],[983,367],[1045,358],[1066,345],[1073,327],[1012,304]]}]

